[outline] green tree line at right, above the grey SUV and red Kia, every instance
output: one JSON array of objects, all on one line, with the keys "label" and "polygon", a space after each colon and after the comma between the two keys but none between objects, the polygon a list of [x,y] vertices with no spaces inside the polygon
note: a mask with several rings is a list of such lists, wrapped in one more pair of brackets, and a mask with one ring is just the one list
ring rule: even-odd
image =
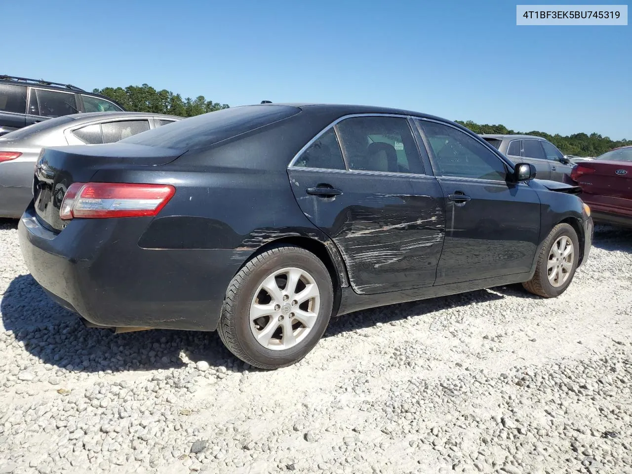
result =
[{"label": "green tree line at right, above the grey SUV and red Kia", "polygon": [[613,148],[623,147],[625,145],[632,145],[632,140],[611,140],[609,137],[602,137],[599,133],[591,133],[590,135],[586,135],[586,133],[574,133],[574,135],[566,135],[562,136],[559,133],[556,135],[549,135],[544,131],[514,131],[510,130],[504,125],[480,125],[471,120],[461,121],[456,120],[456,123],[459,123],[467,128],[469,128],[474,133],[497,133],[500,135],[535,135],[537,137],[546,138],[549,142],[556,145],[559,150],[566,155],[575,155],[575,156],[593,156],[597,157],[601,154],[604,154],[608,150],[612,150]]}]

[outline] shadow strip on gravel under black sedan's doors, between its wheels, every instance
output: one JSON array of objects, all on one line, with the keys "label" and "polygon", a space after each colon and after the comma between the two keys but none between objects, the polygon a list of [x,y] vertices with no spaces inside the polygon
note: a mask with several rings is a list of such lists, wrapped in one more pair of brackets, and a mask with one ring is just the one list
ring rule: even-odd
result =
[{"label": "shadow strip on gravel under black sedan's doors, between its wheels", "polygon": [[[507,287],[502,287],[507,288]],[[468,293],[459,293],[458,295],[441,296],[439,298],[430,298],[428,300],[411,301],[410,303],[399,303],[397,305],[387,305],[369,310],[356,311],[331,320],[324,337],[337,336],[343,332],[355,331],[356,329],[365,329],[373,327],[379,323],[387,324],[393,321],[406,319],[408,317],[416,317],[428,315],[432,312],[446,308],[466,307],[473,303],[483,303],[485,301],[502,300],[504,295],[499,295],[501,287],[489,289],[481,289],[478,291],[469,291]],[[500,292],[502,293],[502,292]],[[519,295],[528,298],[528,294]],[[512,296],[516,296],[512,293]],[[428,320],[428,324],[431,321]]]}]

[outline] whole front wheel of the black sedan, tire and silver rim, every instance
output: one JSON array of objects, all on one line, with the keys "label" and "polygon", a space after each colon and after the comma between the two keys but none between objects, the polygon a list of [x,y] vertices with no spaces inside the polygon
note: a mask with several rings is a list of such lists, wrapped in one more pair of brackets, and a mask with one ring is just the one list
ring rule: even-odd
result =
[{"label": "whole front wheel of the black sedan, tire and silver rim", "polygon": [[[572,255],[563,255],[568,245],[571,245]],[[526,291],[543,298],[561,295],[573,281],[579,257],[580,245],[575,229],[569,224],[557,224],[542,243],[532,279],[523,286]]]}]

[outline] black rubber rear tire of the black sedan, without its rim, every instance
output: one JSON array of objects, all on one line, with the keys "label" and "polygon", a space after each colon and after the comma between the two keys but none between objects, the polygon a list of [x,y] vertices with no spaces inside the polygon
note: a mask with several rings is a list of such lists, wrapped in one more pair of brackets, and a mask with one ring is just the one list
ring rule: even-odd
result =
[{"label": "black rubber rear tire of the black sedan, without its rim", "polygon": [[[286,267],[307,271],[320,293],[320,306],[315,324],[295,346],[271,350],[258,343],[250,329],[250,303],[255,291],[270,274]],[[231,353],[254,367],[273,369],[300,361],[318,343],[331,317],[334,295],[327,267],[304,248],[283,245],[270,248],[247,262],[234,276],[226,290],[217,332]]]}]

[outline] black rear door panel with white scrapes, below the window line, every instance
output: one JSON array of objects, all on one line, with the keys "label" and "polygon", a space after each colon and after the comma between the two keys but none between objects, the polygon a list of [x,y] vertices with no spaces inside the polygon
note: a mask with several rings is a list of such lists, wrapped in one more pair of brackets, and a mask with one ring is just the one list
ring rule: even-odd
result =
[{"label": "black rear door panel with white scrapes, below the window line", "polygon": [[[288,170],[298,205],[336,243],[360,294],[432,286],[444,231],[434,178],[358,171]],[[334,197],[307,193],[331,186]]]}]

